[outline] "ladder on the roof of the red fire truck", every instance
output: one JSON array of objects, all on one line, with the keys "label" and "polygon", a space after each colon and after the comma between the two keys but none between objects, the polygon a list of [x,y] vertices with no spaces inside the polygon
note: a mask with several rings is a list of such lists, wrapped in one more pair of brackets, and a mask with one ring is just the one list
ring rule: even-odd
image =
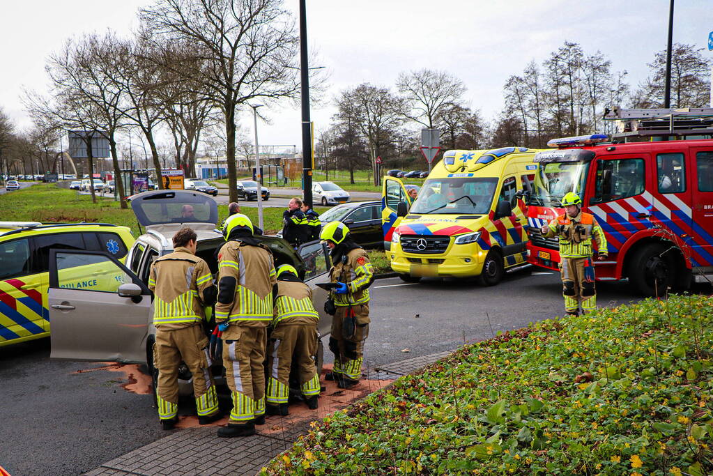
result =
[{"label": "ladder on the roof of the red fire truck", "polygon": [[607,108],[604,120],[615,120],[613,138],[701,135],[713,138],[713,108]]}]

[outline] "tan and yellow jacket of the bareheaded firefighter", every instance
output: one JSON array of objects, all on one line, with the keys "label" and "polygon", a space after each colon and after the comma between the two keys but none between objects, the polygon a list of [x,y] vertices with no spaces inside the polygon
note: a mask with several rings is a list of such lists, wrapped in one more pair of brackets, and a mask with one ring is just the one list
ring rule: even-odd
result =
[{"label": "tan and yellow jacket of the bareheaded firefighter", "polygon": [[215,303],[208,264],[185,247],[151,264],[148,287],[155,296],[153,324],[163,330],[193,326],[205,319],[203,306]]}]

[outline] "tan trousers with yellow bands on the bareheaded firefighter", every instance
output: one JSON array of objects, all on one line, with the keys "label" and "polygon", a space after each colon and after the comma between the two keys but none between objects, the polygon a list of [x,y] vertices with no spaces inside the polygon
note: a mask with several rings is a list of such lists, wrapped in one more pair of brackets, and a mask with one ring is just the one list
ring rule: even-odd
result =
[{"label": "tan trousers with yellow bands on the bareheaded firefighter", "polygon": [[208,338],[200,324],[163,331],[156,328],[153,346],[153,365],[158,370],[158,416],[161,420],[175,418],[178,413],[178,365],[185,362],[193,373],[193,393],[199,416],[214,415],[218,411],[215,383],[210,373]]}]

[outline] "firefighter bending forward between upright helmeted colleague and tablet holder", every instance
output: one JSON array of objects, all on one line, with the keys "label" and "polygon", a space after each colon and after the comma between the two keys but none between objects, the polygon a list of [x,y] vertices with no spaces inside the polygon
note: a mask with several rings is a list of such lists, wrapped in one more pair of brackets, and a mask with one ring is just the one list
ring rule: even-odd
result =
[{"label": "firefighter bending forward between upright helmeted colleague and tablet holder", "polygon": [[299,384],[307,406],[317,408],[319,374],[312,356],[317,353],[319,314],[312,305],[312,289],[290,264],[277,268],[277,287],[272,291],[275,311],[267,350],[267,415],[288,415],[289,373],[294,357]]}]

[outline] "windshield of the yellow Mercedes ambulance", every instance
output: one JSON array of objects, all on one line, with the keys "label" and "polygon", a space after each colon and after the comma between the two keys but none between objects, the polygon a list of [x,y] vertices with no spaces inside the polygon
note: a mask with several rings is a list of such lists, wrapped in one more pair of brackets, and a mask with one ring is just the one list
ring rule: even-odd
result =
[{"label": "windshield of the yellow Mercedes ambulance", "polygon": [[496,177],[447,177],[429,179],[411,205],[419,214],[486,214],[490,212]]}]

